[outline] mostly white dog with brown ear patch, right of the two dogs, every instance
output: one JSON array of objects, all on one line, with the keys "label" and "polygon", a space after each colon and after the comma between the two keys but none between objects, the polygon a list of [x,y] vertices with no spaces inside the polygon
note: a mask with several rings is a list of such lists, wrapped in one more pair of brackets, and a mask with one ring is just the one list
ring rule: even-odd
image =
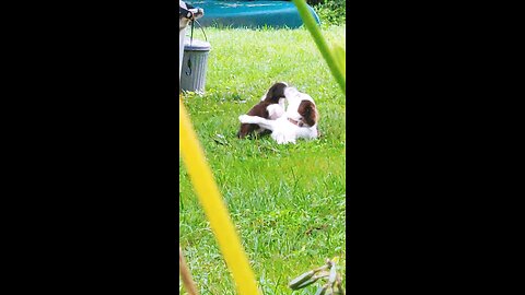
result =
[{"label": "mostly white dog with brown ear patch, right of the two dogs", "polygon": [[272,120],[248,113],[248,115],[240,116],[238,120],[242,123],[256,123],[260,128],[270,130],[271,138],[279,144],[295,143],[300,138],[317,138],[319,113],[314,99],[294,87],[285,86],[283,92],[288,106],[279,118]]}]

